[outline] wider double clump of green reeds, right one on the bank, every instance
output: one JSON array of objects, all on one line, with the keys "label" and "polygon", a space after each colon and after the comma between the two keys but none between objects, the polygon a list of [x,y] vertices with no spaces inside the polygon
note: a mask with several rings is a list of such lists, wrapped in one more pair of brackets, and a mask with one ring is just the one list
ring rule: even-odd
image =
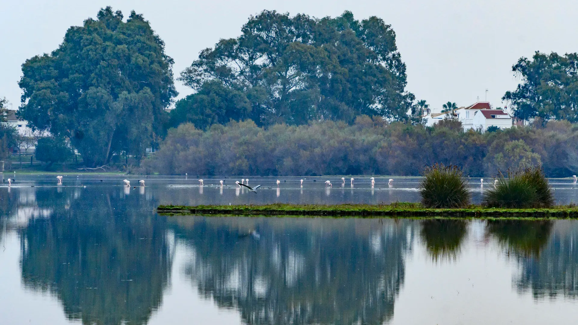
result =
[{"label": "wider double clump of green reeds, right one on the bank", "polygon": [[498,172],[498,184],[484,193],[491,208],[546,208],[554,204],[554,194],[540,167],[510,173]]}]

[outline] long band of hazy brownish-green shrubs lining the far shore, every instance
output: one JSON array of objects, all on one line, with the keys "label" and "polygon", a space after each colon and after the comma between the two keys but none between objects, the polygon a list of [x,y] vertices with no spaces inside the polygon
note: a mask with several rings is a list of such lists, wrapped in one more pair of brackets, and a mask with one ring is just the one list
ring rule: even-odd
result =
[{"label": "long band of hazy brownish-green shrubs lining the far shore", "polygon": [[546,127],[463,132],[444,120],[434,127],[357,117],[353,125],[323,121],[258,127],[253,121],[190,123],[171,129],[149,172],[196,175],[420,175],[426,165],[459,165],[468,176],[542,165],[550,177],[578,171],[578,127],[550,121]]}]

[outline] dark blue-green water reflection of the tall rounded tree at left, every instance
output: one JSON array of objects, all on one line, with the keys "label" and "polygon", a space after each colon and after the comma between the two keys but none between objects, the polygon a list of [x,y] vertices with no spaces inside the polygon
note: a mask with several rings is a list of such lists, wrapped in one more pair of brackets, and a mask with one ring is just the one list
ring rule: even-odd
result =
[{"label": "dark blue-green water reflection of the tall rounded tree at left", "polygon": [[136,193],[37,189],[53,213],[20,230],[24,286],[48,291],[83,324],[147,323],[169,283],[165,218],[139,213],[148,204]]}]

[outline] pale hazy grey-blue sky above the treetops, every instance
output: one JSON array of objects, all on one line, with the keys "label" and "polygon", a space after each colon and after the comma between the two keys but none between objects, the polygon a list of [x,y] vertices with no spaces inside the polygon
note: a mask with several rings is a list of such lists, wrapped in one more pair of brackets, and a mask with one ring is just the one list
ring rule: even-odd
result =
[{"label": "pale hazy grey-blue sky above the treetops", "polygon": [[[512,65],[536,50],[560,54],[578,51],[578,1],[572,0],[398,0],[398,1],[72,1],[0,0],[0,97],[20,105],[20,65],[36,54],[49,53],[62,42],[66,29],[96,17],[112,6],[128,17],[142,13],[175,59],[175,77],[199,51],[220,38],[240,34],[250,14],[261,10],[339,16],[377,16],[391,24],[407,65],[407,90],[426,99],[433,109],[447,101],[458,106],[479,97],[502,106],[506,90],[519,79]],[[191,93],[176,82],[179,98]]]}]

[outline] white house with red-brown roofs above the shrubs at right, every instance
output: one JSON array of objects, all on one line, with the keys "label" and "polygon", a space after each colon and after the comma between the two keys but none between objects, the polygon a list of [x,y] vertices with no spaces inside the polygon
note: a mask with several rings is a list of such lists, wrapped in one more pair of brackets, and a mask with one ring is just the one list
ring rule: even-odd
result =
[{"label": "white house with red-brown roofs above the shrubs at right", "polygon": [[451,112],[428,114],[425,118],[428,126],[444,118],[457,119],[462,123],[464,131],[481,130],[484,132],[492,126],[502,130],[512,127],[512,116],[502,109],[492,109],[489,102],[477,102]]}]

